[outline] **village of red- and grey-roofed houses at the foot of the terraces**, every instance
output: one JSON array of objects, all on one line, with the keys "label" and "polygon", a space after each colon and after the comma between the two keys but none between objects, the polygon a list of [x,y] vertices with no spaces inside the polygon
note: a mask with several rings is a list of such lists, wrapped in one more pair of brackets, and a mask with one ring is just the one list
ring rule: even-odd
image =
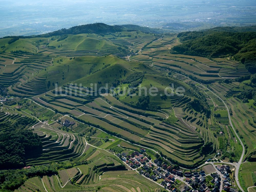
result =
[{"label": "village of red- and grey-roofed houses at the foot of the terraces", "polygon": [[[237,192],[237,189],[232,188],[229,165],[214,165],[212,163],[215,167],[214,172],[208,174],[202,169],[188,172],[180,169],[178,165],[170,165],[161,156],[152,161],[145,156],[145,152],[146,150],[141,148],[140,151],[132,151],[129,154],[117,153],[116,155],[132,170],[136,170],[141,175],[162,185],[168,191],[217,192],[225,190]],[[210,160],[208,159],[207,162]]]}]

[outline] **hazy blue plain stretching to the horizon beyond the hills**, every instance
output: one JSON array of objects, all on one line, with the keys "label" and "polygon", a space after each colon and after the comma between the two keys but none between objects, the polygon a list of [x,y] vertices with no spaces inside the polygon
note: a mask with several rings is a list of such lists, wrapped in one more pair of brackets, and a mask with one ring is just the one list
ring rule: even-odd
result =
[{"label": "hazy blue plain stretching to the horizon beyond the hills", "polygon": [[156,28],[168,28],[169,23],[185,25],[180,30],[247,26],[255,24],[255,10],[253,0],[0,0],[0,37],[47,33],[95,22]]}]

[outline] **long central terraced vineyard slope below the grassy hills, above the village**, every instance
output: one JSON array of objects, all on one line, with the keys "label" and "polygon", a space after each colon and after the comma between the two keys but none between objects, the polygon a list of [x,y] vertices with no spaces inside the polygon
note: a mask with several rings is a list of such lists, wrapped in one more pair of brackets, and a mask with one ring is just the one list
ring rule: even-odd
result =
[{"label": "long central terraced vineyard slope below the grassy hills, above the village", "polygon": [[[73,87],[70,91],[74,89],[76,88]],[[65,97],[71,99],[68,95]],[[48,92],[45,95],[33,97],[33,100],[59,112],[65,111],[73,119],[88,126],[95,126],[134,143],[161,150],[163,154],[174,160],[178,160],[176,157],[180,156],[184,164],[189,165],[197,158],[198,161],[203,161],[200,156],[196,155],[200,146],[203,145],[200,134],[187,126],[185,122],[177,121],[178,119],[174,122],[159,121],[159,118],[162,120],[166,118],[165,113],[161,111],[137,110],[108,95],[102,98],[84,97],[80,100],[72,99],[72,101],[65,102],[59,98],[59,94],[54,95]],[[74,110],[80,111],[81,115],[76,116],[73,113]],[[134,113],[135,111],[137,114]],[[151,117],[140,116],[138,112]],[[191,141],[194,143],[193,147],[189,144]],[[90,142],[96,145],[98,141],[93,139]]]}]

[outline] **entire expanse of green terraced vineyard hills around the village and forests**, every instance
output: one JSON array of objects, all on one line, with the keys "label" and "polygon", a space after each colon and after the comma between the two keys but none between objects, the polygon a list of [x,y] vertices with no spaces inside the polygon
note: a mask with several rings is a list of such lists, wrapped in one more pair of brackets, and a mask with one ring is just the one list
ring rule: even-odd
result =
[{"label": "entire expanse of green terraced vineyard hills around the village and forests", "polygon": [[[158,153],[187,169],[218,152],[223,161],[239,161],[243,147],[229,115],[246,147],[244,160],[254,155],[254,97],[241,96],[254,88],[254,79],[234,57],[173,54],[182,39],[169,33],[46,36],[0,39],[6,45],[0,52],[1,89],[13,96],[1,98],[0,131],[37,133],[42,152],[27,155],[26,166],[59,166],[16,191],[161,191],[123,170],[112,152],[144,147],[153,159]],[[147,97],[152,89],[157,94]],[[203,152],[205,144],[210,152]],[[252,169],[252,162],[241,167],[245,188],[255,183]]]}]

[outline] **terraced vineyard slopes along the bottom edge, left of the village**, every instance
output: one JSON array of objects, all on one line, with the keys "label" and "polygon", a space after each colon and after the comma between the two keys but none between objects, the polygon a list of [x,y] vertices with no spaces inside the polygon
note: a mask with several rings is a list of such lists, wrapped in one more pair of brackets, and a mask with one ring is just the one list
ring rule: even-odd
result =
[{"label": "terraced vineyard slopes along the bottom edge, left of the village", "polygon": [[110,189],[115,191],[160,191],[163,189],[133,170],[123,170],[124,167],[120,166],[120,159],[115,155],[104,150],[94,149],[91,153],[91,149],[88,148],[80,158],[81,162],[87,160],[88,164],[58,170],[57,175],[32,177],[15,191],[93,191],[99,188],[101,191]]}]

